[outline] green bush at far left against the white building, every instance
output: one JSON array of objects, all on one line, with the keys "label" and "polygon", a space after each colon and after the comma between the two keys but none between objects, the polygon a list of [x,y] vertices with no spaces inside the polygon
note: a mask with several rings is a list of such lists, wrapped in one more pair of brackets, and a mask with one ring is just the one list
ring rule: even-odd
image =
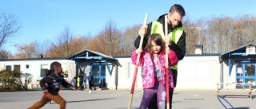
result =
[{"label": "green bush at far left against the white building", "polygon": [[0,91],[27,90],[27,85],[32,81],[32,75],[18,71],[0,71]]}]

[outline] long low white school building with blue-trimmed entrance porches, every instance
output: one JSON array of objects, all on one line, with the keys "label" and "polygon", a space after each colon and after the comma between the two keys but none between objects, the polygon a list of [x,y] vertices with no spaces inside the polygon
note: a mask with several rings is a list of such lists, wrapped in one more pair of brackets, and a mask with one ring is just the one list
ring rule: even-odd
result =
[{"label": "long low white school building with blue-trimmed entrance porches", "polygon": [[[186,54],[178,62],[178,84],[181,90],[216,90],[220,88],[255,88],[256,53],[253,44],[243,45],[222,54],[202,53],[202,46],[195,47],[194,54]],[[82,50],[68,58],[38,58],[0,60],[0,70],[19,70],[33,76],[32,84],[38,84],[50,64],[62,64],[65,79],[70,81],[79,73],[92,72],[94,84],[99,88],[130,90],[135,65],[130,56],[106,56],[90,50]],[[241,84],[234,84],[241,83]],[[142,68],[138,68],[135,89],[142,89]]]}]

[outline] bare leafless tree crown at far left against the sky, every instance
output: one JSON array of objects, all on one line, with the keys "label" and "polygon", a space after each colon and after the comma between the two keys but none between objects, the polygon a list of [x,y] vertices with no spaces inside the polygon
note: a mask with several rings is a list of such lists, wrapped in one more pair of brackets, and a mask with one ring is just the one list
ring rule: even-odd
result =
[{"label": "bare leafless tree crown at far left against the sky", "polygon": [[22,23],[14,14],[0,13],[0,47],[13,37],[17,37],[22,29]]}]

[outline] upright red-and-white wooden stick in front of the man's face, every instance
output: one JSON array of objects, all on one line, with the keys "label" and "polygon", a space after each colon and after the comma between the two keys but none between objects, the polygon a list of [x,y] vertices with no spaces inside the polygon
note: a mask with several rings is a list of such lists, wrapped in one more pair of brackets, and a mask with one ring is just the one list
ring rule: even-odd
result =
[{"label": "upright red-and-white wooden stick in front of the man's face", "polygon": [[[165,35],[168,35],[168,26],[167,26],[167,15],[165,16]],[[166,44],[168,46],[168,44]],[[166,108],[170,109],[170,91],[169,91],[169,61],[168,53],[166,53]]]}]

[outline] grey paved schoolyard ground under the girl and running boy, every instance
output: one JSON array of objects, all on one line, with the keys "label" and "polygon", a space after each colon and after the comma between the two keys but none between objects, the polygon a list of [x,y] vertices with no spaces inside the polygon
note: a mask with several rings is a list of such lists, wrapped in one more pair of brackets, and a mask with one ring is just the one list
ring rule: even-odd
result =
[{"label": "grey paved schoolyard ground under the girl and running boy", "polygon": [[[134,92],[132,108],[138,108],[142,90]],[[253,93],[254,94],[254,93]],[[246,92],[221,92],[225,99],[237,109],[256,109],[256,99],[249,99]],[[255,94],[254,94],[255,95]],[[42,91],[1,91],[0,109],[26,109],[40,100]],[[66,109],[126,109],[130,91],[103,90],[70,91],[64,90]],[[223,103],[231,108],[223,99]],[[47,103],[42,109],[58,109],[56,103]],[[225,109],[217,99],[216,91],[174,91],[173,109]]]}]

